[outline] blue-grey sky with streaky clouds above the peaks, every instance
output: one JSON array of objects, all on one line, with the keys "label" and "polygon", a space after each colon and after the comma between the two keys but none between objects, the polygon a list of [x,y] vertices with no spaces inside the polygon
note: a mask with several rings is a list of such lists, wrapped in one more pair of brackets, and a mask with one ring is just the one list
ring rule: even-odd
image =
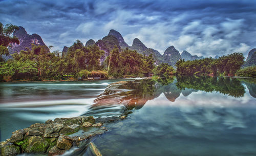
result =
[{"label": "blue-grey sky with streaky clouds above the peaks", "polygon": [[163,53],[174,45],[215,56],[256,48],[256,1],[0,0],[0,21],[23,26],[62,50],[76,39],[97,41],[115,29],[131,46],[139,38]]}]

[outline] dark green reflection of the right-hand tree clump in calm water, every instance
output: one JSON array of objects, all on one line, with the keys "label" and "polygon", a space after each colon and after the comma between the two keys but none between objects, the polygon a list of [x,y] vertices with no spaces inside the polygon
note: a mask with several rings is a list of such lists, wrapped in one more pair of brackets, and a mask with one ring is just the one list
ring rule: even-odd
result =
[{"label": "dark green reflection of the right-hand tree clump in calm water", "polygon": [[245,87],[236,78],[177,77],[176,85],[181,90],[192,88],[204,92],[220,92],[233,97],[243,97],[245,94]]}]

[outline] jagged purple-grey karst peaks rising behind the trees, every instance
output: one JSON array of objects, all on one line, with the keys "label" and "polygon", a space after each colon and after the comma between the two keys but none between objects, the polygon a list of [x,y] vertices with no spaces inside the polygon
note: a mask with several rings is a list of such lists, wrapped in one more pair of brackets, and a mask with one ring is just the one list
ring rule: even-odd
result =
[{"label": "jagged purple-grey karst peaks rising behind the trees", "polygon": [[[29,35],[26,30],[23,27],[19,26],[19,30],[16,30],[13,32],[13,35],[18,37],[19,44],[12,44],[12,47],[9,48],[9,53],[13,54],[15,52],[20,52],[21,50],[26,50],[26,47],[31,49],[31,43],[36,45],[45,46],[46,44],[42,40],[42,38],[37,34]],[[152,48],[147,48],[145,44],[143,44],[138,38],[135,38],[133,40],[132,46],[129,46],[123,39],[122,35],[116,31],[111,29],[109,34],[102,39],[99,39],[97,42],[95,42],[93,39],[90,39],[86,42],[85,46],[92,46],[96,44],[100,50],[103,50],[105,52],[105,55],[101,57],[101,62],[104,61],[104,59],[109,56],[110,52],[114,49],[115,46],[119,48],[119,50],[128,48],[130,50],[136,50],[138,53],[142,55],[150,55],[152,54],[154,59],[156,60],[156,64],[160,63],[168,63],[172,65],[174,68],[176,68],[175,64],[179,59],[187,60],[196,60],[196,59],[203,59],[204,56],[197,56],[197,55],[191,55],[187,51],[180,52],[175,49],[174,46],[168,47],[163,55],[160,54],[157,50]],[[65,56],[68,52],[69,47],[63,47],[62,55]],[[220,56],[216,55],[215,58],[219,58]],[[11,56],[4,56],[5,59],[11,58]],[[243,64],[243,67],[250,66],[250,65],[256,65],[256,49],[252,49],[248,53],[248,57],[246,59],[246,62]]]}]

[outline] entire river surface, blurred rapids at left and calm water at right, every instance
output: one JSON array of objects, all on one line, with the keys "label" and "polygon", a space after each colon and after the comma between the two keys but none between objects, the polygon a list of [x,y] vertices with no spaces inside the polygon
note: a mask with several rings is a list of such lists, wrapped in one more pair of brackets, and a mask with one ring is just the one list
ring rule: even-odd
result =
[{"label": "entire river surface, blurred rapids at left and calm water at right", "polygon": [[[129,114],[105,125],[93,142],[102,155],[255,155],[256,79],[177,77],[134,80],[1,83],[1,141],[35,122],[60,117]],[[91,155],[72,149],[66,155]]]}]

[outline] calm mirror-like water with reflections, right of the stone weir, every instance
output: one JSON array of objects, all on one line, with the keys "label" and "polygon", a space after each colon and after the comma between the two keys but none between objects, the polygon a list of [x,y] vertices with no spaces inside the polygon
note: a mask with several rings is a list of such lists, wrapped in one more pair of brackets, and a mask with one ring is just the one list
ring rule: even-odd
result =
[{"label": "calm mirror-like water with reflections, right of the stone weir", "polygon": [[254,88],[242,79],[217,77],[107,88],[94,109],[123,104],[124,111],[139,110],[106,125],[110,131],[94,143],[102,155],[255,155]]}]

